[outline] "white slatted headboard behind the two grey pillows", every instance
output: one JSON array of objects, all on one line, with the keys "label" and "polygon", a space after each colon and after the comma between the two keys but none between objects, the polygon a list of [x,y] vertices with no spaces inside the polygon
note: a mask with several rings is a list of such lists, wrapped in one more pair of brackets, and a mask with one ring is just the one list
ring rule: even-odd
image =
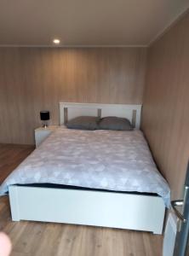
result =
[{"label": "white slatted headboard behind the two grey pillows", "polygon": [[129,119],[136,129],[140,129],[140,114],[141,105],[60,102],[60,125],[81,115],[117,116]]}]

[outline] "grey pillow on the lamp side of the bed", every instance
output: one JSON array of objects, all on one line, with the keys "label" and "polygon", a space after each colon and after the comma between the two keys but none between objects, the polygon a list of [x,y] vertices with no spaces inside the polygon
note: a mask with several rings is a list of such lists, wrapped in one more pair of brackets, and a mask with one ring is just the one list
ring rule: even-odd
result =
[{"label": "grey pillow on the lamp side of the bed", "polygon": [[99,117],[95,116],[78,116],[66,123],[66,127],[79,130],[96,130],[98,129]]}]

